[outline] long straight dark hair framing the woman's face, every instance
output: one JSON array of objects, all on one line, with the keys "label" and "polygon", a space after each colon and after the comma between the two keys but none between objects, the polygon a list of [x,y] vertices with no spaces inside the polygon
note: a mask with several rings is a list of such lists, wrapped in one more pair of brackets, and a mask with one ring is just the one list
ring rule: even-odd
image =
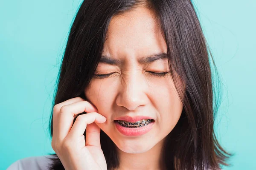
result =
[{"label": "long straight dark hair framing the woman's face", "polygon": [[[219,76],[190,0],[84,0],[69,33],[52,113],[54,105],[67,99],[77,96],[86,99],[84,89],[101,57],[111,18],[139,6],[154,11],[166,41],[175,87],[180,98],[184,94],[180,119],[163,146],[166,168],[216,170],[221,165],[230,166],[226,161],[233,154],[221,147],[214,131],[215,115],[221,102],[221,86],[215,84]],[[178,79],[184,82],[185,90]],[[49,121],[51,137],[52,113]],[[102,130],[100,140],[108,169],[119,167],[115,144]],[[49,169],[64,170],[58,156],[51,155],[55,157],[51,158]]]}]

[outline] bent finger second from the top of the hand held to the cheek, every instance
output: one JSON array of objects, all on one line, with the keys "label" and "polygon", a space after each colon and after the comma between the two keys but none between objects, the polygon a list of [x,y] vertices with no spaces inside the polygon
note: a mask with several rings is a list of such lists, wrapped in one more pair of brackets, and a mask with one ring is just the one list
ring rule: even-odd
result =
[{"label": "bent finger second from the top of the hand held to the cheek", "polygon": [[64,105],[61,107],[59,112],[58,125],[57,125],[57,129],[58,129],[57,139],[62,141],[67,136],[67,134],[70,132],[70,129],[73,125],[74,116],[84,111],[87,113],[95,112],[96,108],[94,108],[93,105],[91,105],[87,101],[75,102],[75,103]]}]

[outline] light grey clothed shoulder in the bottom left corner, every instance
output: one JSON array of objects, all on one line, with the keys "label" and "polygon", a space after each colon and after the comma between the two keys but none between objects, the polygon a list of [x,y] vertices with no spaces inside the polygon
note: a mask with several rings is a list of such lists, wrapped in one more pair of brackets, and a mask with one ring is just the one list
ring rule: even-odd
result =
[{"label": "light grey clothed shoulder in the bottom left corner", "polygon": [[19,159],[12,163],[7,170],[48,170],[51,163],[49,158],[53,158],[53,156],[32,156]]}]

